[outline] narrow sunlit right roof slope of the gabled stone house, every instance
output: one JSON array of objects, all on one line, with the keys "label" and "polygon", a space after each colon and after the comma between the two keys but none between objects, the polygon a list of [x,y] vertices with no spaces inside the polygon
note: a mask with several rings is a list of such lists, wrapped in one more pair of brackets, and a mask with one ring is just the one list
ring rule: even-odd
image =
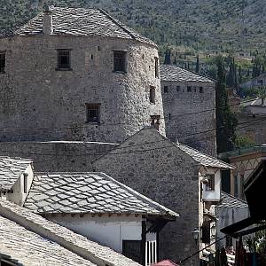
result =
[{"label": "narrow sunlit right roof slope of the gabled stone house", "polygon": [[234,167],[224,162],[223,160],[216,159],[205,153],[201,153],[198,150],[193,149],[187,145],[179,144],[178,147],[184,152],[190,155],[194,160],[198,161],[201,165],[211,168],[226,168],[233,169]]}]

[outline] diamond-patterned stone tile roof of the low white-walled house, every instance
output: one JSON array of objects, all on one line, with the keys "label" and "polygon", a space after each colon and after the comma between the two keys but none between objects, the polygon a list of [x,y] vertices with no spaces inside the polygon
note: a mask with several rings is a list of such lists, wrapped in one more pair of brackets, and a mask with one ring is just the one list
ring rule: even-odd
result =
[{"label": "diamond-patterned stone tile roof of the low white-walled house", "polygon": [[103,173],[36,174],[25,207],[36,213],[178,216]]}]

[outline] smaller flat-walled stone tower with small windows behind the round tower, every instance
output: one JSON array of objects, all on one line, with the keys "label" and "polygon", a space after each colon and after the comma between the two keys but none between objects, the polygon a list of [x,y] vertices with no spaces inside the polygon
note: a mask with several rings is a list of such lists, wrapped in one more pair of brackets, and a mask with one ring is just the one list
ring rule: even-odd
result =
[{"label": "smaller flat-walled stone tower with small windows behind the round tower", "polygon": [[160,66],[166,136],[216,154],[215,81],[179,66]]}]

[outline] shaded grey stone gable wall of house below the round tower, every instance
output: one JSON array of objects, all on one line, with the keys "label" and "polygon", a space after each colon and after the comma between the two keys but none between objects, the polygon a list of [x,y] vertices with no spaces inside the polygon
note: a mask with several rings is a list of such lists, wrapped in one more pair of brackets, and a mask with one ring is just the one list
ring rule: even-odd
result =
[{"label": "shaded grey stone gable wall of house below the round tower", "polygon": [[[199,250],[192,231],[199,227],[199,165],[155,129],[143,129],[93,162],[137,192],[180,214],[160,233],[160,259],[174,262]],[[199,265],[199,256],[186,265]]]}]

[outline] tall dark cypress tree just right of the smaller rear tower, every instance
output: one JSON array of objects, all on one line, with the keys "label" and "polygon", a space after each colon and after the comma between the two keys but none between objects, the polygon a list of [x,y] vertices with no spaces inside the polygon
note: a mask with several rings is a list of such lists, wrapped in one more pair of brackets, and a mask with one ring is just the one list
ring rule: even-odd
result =
[{"label": "tall dark cypress tree just right of the smaller rear tower", "polygon": [[237,119],[231,113],[226,90],[226,72],[223,57],[217,58],[217,84],[215,90],[217,153],[225,153],[234,148]]}]

